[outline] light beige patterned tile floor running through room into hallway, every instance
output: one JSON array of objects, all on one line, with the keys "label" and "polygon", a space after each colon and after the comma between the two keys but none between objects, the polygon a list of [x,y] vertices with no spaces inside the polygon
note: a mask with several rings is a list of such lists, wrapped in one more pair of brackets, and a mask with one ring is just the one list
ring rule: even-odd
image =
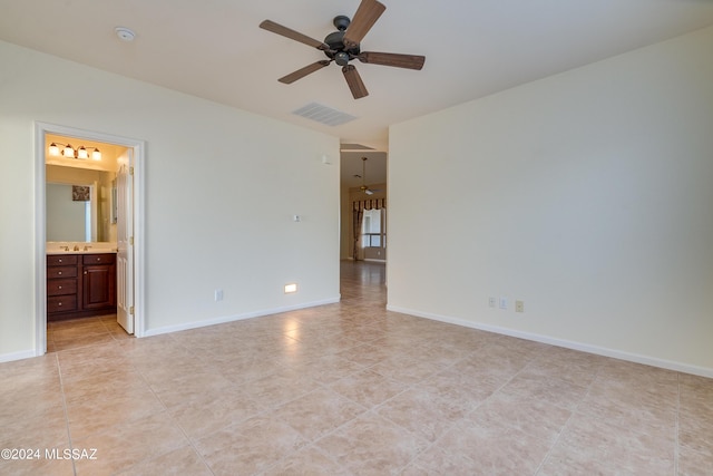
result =
[{"label": "light beige patterned tile floor running through room into hallway", "polygon": [[713,474],[713,380],[387,312],[382,264],[342,283],[155,338],[51,329],[0,365],[0,448],[41,450],[0,474]]}]

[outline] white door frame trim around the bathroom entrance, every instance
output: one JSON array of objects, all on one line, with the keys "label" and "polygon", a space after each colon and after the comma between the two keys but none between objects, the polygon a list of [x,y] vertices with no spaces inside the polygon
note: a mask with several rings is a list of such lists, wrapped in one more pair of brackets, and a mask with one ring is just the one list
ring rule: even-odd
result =
[{"label": "white door frame trim around the bathroom entrance", "polygon": [[144,140],[76,127],[35,122],[35,354],[47,352],[47,210],[45,136],[56,134],[78,139],[116,144],[134,149],[134,336],[144,337],[145,221],[144,221]]}]

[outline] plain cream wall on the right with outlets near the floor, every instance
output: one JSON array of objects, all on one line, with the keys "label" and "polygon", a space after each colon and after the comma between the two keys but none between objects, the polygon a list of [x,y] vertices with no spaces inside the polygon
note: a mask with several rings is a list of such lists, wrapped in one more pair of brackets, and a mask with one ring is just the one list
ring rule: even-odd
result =
[{"label": "plain cream wall on the right with outlets near the floor", "polygon": [[707,28],[392,126],[389,309],[713,376],[711,51]]}]

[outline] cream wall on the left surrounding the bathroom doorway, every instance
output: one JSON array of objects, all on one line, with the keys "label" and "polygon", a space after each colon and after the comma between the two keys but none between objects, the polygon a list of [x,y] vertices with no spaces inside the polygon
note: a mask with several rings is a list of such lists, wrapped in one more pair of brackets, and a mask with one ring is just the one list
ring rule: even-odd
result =
[{"label": "cream wall on the left surrounding the bathroom doorway", "polygon": [[36,122],[145,140],[147,333],[339,300],[336,137],[6,42],[0,64],[0,361],[36,347]]}]

